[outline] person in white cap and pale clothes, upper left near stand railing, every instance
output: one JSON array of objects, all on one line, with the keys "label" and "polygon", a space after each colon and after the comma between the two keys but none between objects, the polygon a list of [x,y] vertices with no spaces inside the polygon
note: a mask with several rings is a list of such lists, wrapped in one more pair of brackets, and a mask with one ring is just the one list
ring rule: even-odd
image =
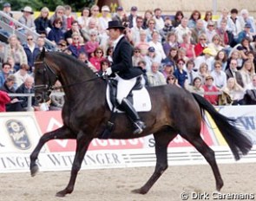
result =
[{"label": "person in white cap and pale clothes, upper left near stand railing", "polygon": [[[23,16],[21,16],[18,19],[18,22],[25,25],[27,28],[30,29],[30,31],[36,31],[34,17],[32,16],[34,14],[32,8],[30,6],[25,6],[22,12]],[[23,28],[19,28],[18,30],[22,31],[23,33],[26,33],[26,31]]]}]

